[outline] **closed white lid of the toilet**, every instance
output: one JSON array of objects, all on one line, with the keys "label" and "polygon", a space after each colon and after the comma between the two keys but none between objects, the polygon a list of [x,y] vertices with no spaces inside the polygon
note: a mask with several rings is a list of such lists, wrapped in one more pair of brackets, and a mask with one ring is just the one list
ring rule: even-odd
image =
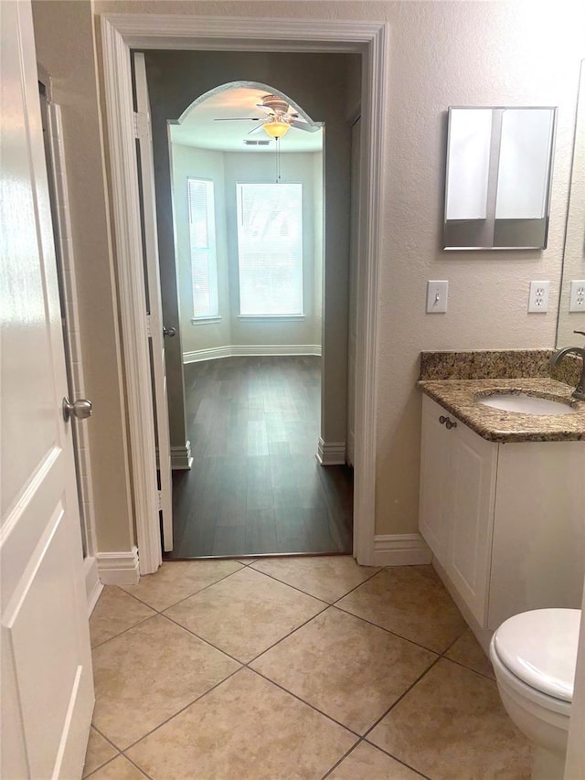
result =
[{"label": "closed white lid of the toilet", "polygon": [[580,609],[515,614],[495,632],[497,655],[531,688],[572,701],[580,617]]}]

